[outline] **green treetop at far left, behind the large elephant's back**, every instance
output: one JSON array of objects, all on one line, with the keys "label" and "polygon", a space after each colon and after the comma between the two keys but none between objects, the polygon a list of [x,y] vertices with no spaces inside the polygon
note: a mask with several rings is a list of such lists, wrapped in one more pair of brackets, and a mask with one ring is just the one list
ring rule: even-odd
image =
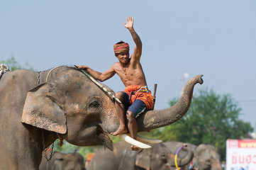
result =
[{"label": "green treetop at far left, behind the large elephant's back", "polygon": [[21,64],[19,64],[15,60],[13,54],[11,54],[11,58],[10,59],[0,61],[0,64],[6,65],[6,67],[8,67],[11,71],[14,71],[16,69],[29,69],[29,70],[33,70],[33,67],[30,64],[28,64],[28,62],[26,62],[25,66],[21,66]]}]

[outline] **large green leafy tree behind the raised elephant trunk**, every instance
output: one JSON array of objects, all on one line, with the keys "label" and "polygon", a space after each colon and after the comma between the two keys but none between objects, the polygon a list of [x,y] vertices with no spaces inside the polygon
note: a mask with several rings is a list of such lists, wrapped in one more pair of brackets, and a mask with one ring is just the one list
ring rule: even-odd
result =
[{"label": "large green leafy tree behind the raised elephant trunk", "polygon": [[[170,105],[176,102],[174,99]],[[212,144],[225,159],[226,140],[242,139],[253,130],[250,123],[239,120],[241,111],[230,94],[218,95],[213,90],[204,89],[193,97],[188,113],[162,132],[174,130],[175,140],[194,145]]]}]

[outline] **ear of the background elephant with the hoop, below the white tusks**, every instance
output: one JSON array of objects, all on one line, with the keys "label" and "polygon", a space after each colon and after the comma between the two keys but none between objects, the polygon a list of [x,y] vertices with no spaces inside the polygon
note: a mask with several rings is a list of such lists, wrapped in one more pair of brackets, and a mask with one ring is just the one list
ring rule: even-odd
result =
[{"label": "ear of the background elephant with the hoop, below the white tusks", "polygon": [[142,149],[137,154],[135,165],[150,170],[152,149]]}]

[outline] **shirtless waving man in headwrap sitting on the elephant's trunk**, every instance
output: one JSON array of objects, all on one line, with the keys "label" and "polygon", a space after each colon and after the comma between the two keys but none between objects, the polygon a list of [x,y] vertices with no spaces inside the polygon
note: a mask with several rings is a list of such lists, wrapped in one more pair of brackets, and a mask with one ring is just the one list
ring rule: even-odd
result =
[{"label": "shirtless waving man in headwrap sitting on the elephant's trunk", "polygon": [[[111,135],[120,135],[129,130],[131,137],[136,139],[138,123],[135,118],[145,111],[146,108],[152,110],[154,101],[147,87],[143,67],[140,64],[142,42],[133,28],[133,21],[134,19],[131,16],[128,16],[128,18],[126,18],[126,23],[123,23],[125,28],[128,28],[130,31],[133,41],[135,42],[133,55],[130,56],[129,54],[130,48],[128,43],[121,41],[113,46],[118,62],[113,64],[105,72],[96,72],[95,70],[82,65],[78,65],[77,67],[79,69],[87,69],[87,72],[89,72],[94,79],[99,81],[105,81],[113,77],[114,74],[118,74],[121,81],[123,81],[123,84],[126,86],[126,89],[116,93],[116,97],[122,102],[115,103],[120,125],[116,132],[111,132]],[[126,128],[125,115],[128,120],[128,130]],[[131,149],[138,150],[138,147],[132,146]]]}]

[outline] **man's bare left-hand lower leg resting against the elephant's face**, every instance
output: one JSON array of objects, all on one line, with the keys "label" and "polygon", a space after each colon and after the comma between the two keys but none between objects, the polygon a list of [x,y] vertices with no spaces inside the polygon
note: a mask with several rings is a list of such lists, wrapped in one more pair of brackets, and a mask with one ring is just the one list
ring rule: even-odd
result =
[{"label": "man's bare left-hand lower leg resting against the elephant's face", "polygon": [[115,107],[116,107],[116,112],[118,114],[118,119],[119,119],[119,128],[118,130],[116,130],[116,132],[111,132],[111,135],[116,136],[116,135],[120,135],[123,133],[127,132],[127,128],[126,128],[126,110],[125,110],[125,106],[124,106],[124,94],[121,91],[118,91],[116,93],[116,97],[122,102],[115,102]]}]

